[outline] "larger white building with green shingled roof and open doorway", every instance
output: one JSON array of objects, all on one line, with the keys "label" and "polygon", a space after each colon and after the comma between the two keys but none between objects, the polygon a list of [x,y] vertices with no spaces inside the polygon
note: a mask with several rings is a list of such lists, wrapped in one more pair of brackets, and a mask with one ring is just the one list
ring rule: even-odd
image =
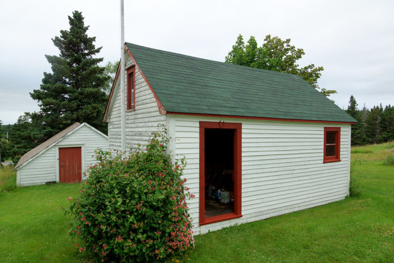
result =
[{"label": "larger white building with green shingled roof and open doorway", "polygon": [[188,162],[196,234],[348,195],[356,120],[301,77],[125,48],[126,107],[118,69],[104,113],[109,148],[122,148],[122,111],[128,148],[146,144],[164,124],[169,152]]}]

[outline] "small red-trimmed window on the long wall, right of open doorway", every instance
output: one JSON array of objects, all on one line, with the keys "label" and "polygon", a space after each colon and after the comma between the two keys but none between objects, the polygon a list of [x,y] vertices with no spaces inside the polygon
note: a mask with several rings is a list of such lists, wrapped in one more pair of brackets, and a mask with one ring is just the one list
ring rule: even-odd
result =
[{"label": "small red-trimmed window on the long wall, right of open doorway", "polygon": [[324,128],[323,162],[340,161],[341,127]]}]

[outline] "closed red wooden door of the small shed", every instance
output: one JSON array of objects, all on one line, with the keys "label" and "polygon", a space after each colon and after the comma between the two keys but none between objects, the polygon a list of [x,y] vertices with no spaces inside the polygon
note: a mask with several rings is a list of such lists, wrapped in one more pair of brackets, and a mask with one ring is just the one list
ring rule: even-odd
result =
[{"label": "closed red wooden door of the small shed", "polygon": [[59,182],[75,183],[81,180],[81,147],[59,148]]}]

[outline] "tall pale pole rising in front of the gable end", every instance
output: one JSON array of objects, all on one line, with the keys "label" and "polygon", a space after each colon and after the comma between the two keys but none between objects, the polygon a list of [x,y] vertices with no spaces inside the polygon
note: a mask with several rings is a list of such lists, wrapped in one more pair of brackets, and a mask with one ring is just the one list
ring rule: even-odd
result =
[{"label": "tall pale pole rising in front of the gable end", "polygon": [[122,151],[126,151],[126,103],[125,103],[125,22],[124,22],[124,10],[123,0],[120,0],[120,93],[121,93],[121,147]]}]

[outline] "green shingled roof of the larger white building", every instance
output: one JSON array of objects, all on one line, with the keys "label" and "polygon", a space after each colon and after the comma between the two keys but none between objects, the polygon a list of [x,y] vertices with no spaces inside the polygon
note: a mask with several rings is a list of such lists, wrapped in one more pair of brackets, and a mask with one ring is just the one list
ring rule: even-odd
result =
[{"label": "green shingled roof of the larger white building", "polygon": [[356,122],[298,75],[126,45],[166,112]]}]

